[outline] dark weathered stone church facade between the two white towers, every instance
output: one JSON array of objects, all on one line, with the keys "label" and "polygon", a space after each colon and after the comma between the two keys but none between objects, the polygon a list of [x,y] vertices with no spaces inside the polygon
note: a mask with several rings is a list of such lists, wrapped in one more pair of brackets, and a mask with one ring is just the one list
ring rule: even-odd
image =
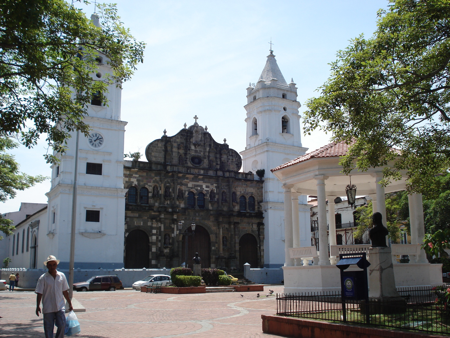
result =
[{"label": "dark weathered stone church facade between the two white towers", "polygon": [[[126,268],[180,266],[198,252],[202,267],[264,265],[263,181],[195,122],[148,144],[148,162],[126,161]],[[178,224],[182,224],[178,230]],[[196,224],[193,235],[191,224]]]}]

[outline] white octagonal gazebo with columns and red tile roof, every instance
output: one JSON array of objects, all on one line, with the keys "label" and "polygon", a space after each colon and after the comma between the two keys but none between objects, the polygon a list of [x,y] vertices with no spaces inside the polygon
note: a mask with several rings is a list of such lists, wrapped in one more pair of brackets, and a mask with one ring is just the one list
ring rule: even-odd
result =
[{"label": "white octagonal gazebo with columns and red tile roof", "polygon": [[[341,156],[347,154],[348,147],[345,142],[333,142],[271,169],[284,187],[285,293],[339,290],[336,256],[339,253],[367,252],[370,247],[370,244],[336,245],[334,217],[329,217],[328,243],[327,199],[329,214],[334,215],[334,199],[345,196],[346,187],[350,183],[349,176],[342,174],[342,166],[339,164]],[[383,167],[369,168],[367,171],[355,169],[349,175],[351,183],[357,187],[357,194],[372,198],[374,212],[378,211],[383,215],[383,224],[386,226],[385,193],[405,190],[407,176],[404,172],[401,180],[392,181],[383,187],[378,184],[383,178],[382,171]],[[314,246],[300,247],[300,224],[296,212],[299,195],[317,196],[318,251]],[[398,263],[393,259],[396,286],[441,285],[441,264],[428,263],[425,251],[420,249],[425,234],[422,195],[409,194],[408,202],[411,244],[393,244],[392,255],[410,255],[414,259],[410,263]],[[306,264],[308,258],[313,260],[313,265]]]}]

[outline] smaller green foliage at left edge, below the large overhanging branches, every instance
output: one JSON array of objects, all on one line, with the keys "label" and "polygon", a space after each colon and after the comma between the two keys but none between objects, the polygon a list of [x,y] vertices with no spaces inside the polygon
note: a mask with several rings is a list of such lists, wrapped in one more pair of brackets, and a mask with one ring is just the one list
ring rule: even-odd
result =
[{"label": "smaller green foliage at left edge, below the large overhanging branches", "polygon": [[[0,137],[0,202],[14,198],[17,190],[25,190],[46,179],[45,176],[30,176],[19,172],[19,165],[14,156],[6,152],[17,146],[18,144],[8,137]],[[12,220],[0,216],[0,231],[11,235],[14,229],[12,224]]]}]

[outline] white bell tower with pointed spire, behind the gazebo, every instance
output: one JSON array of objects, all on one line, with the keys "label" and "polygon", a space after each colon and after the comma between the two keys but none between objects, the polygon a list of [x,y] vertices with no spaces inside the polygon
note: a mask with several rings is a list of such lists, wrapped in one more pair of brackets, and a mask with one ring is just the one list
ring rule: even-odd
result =
[{"label": "white bell tower with pointed spire, behind the gazebo", "polygon": [[[256,85],[247,88],[247,146],[240,154],[243,171],[265,170],[264,200],[264,266],[284,265],[284,196],[281,183],[270,172],[280,164],[304,155],[300,137],[297,87],[284,80],[273,50]],[[301,246],[311,245],[310,210],[306,196],[299,196]],[[302,206],[303,204],[303,206]]]}]

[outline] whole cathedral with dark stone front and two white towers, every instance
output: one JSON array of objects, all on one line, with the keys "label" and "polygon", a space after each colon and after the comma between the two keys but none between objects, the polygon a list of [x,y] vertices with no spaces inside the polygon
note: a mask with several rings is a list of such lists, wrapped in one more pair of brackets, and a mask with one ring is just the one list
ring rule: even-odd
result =
[{"label": "whole cathedral with dark stone front and two white towers", "polygon": [[[99,58],[100,75],[108,73],[105,61]],[[272,50],[257,83],[247,88],[247,137],[240,154],[226,140],[216,142],[195,116],[175,135],[164,131],[149,140],[147,161],[124,161],[121,88],[112,84],[107,97],[108,106],[93,99],[88,107],[89,137],[78,139],[74,132],[67,153],[56,154],[61,162],[52,166],[47,206],[27,215],[2,241],[11,266],[36,268],[53,254],[62,269],[68,267],[73,195],[75,268],[189,266],[196,252],[202,267],[284,265],[286,187],[270,169],[307,149],[296,84],[286,82]],[[300,245],[309,246],[306,196],[292,194],[292,206],[298,208]]]}]

